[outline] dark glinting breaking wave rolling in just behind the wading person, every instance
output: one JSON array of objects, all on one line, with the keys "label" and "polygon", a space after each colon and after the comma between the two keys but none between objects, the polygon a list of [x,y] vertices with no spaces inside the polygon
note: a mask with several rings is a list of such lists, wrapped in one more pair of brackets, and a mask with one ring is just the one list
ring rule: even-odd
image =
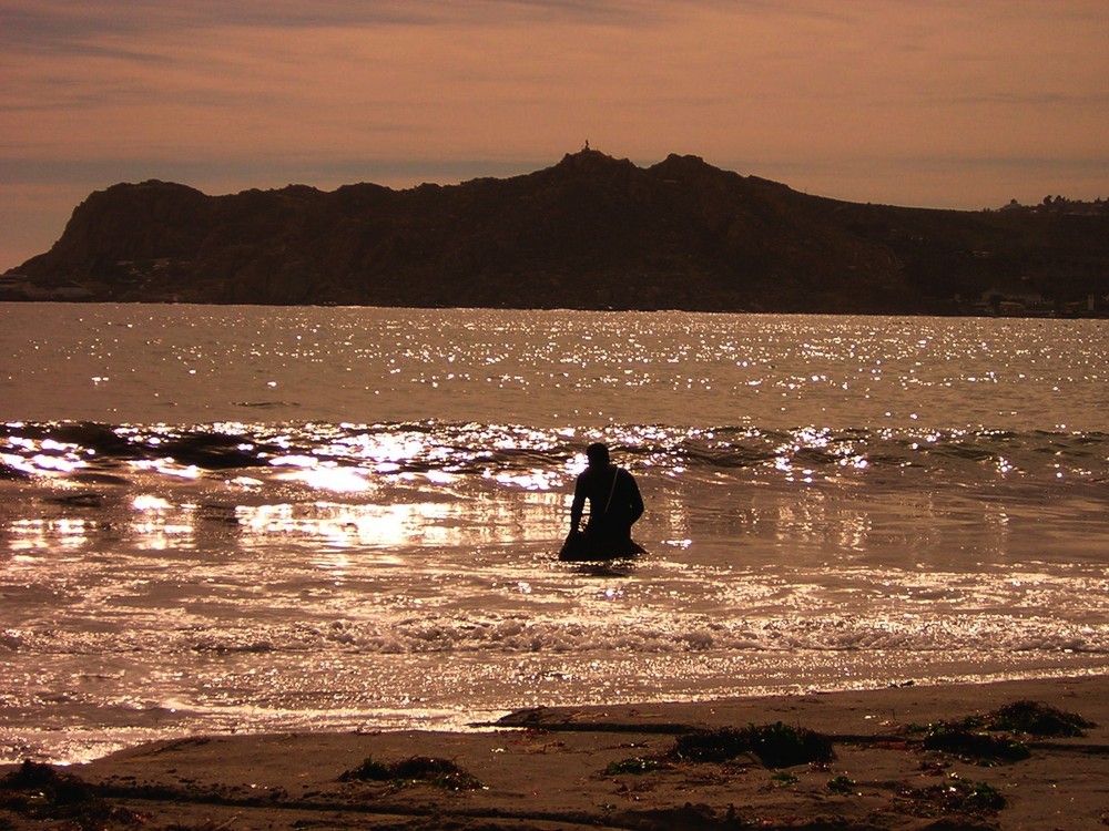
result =
[{"label": "dark glinting breaking wave rolling in just behind the wading person", "polygon": [[0,424],[0,478],[80,481],[129,470],[353,468],[367,474],[562,471],[608,441],[624,464],[667,475],[835,479],[914,472],[952,483],[1109,479],[1109,433],[802,427],[621,425],[597,431],[441,421],[378,424],[94,422]]}]

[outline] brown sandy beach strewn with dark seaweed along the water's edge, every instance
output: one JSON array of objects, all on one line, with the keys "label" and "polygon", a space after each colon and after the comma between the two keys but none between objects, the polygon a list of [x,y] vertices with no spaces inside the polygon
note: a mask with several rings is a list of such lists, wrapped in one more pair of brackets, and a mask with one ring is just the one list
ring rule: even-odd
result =
[{"label": "brown sandy beach strewn with dark seaweed along the water's edge", "polygon": [[[6,768],[0,828],[1105,828],[1107,694],[1103,677],[908,685],[540,708],[460,733],[197,736]],[[774,756],[797,738],[800,757]]]}]

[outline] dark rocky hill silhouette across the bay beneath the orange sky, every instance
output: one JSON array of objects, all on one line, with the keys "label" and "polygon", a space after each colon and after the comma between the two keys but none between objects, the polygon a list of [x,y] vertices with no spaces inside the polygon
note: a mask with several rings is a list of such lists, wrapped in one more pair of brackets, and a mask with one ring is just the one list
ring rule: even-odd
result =
[{"label": "dark rocky hill silhouette across the bay beneath the orange sky", "polygon": [[583,150],[405,191],[114,185],[0,298],[954,314],[984,294],[1086,308],[1107,266],[1105,214],[859,205]]}]

